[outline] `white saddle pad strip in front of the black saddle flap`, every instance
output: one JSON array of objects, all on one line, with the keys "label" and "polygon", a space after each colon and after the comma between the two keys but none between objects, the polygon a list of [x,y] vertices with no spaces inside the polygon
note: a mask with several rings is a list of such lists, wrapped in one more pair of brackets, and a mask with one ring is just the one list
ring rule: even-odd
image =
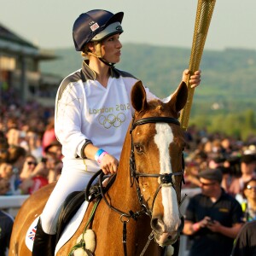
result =
[{"label": "white saddle pad strip in front of the black saddle flap", "polygon": [[58,241],[55,247],[55,255],[60,250],[60,248],[73,236],[76,230],[79,229],[79,225],[81,224],[84,213],[86,212],[88,207],[88,201],[84,201],[84,203],[79,208],[79,211],[73,216],[71,221],[67,224],[66,228],[64,229],[60,240]]}]

